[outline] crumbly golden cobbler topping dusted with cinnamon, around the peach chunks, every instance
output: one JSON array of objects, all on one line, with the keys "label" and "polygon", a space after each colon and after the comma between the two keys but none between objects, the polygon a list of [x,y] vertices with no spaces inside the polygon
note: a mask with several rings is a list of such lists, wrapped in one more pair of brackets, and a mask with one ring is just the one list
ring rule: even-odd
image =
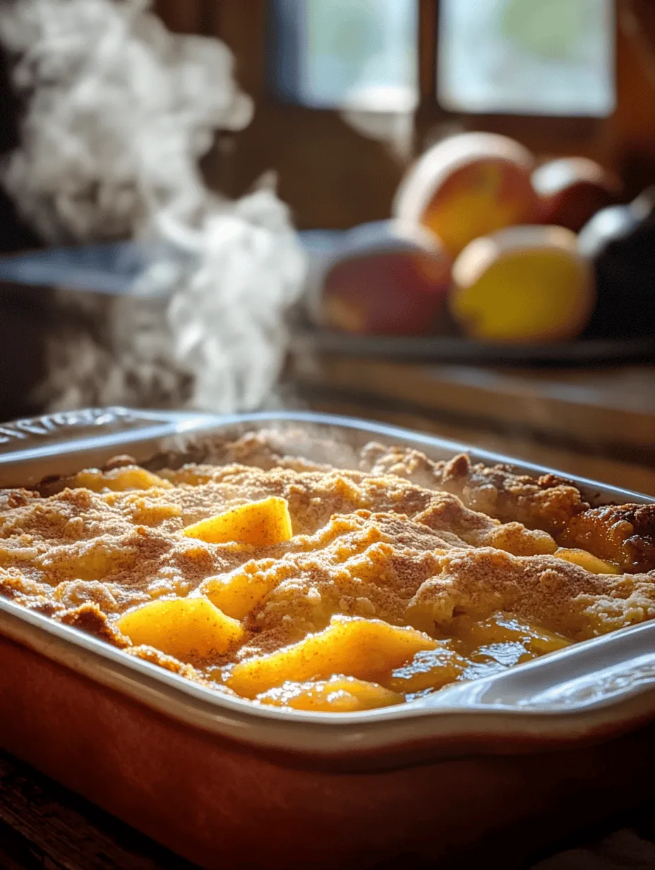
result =
[{"label": "crumbly golden cobbler topping dusted with cinnamon, around the peach chunks", "polygon": [[[367,445],[358,470],[336,470],[249,436],[226,458],[153,475],[121,457],[43,493],[0,492],[0,594],[218,691],[228,691],[235,663],[297,643],[338,614],[447,643],[463,615],[511,613],[571,641],[655,617],[651,505],[591,509],[552,475],[513,475],[465,455],[433,462],[400,447]],[[294,536],[284,543],[182,533],[271,495],[289,505]],[[638,573],[594,574],[556,558],[558,544]],[[131,608],[198,594],[206,579],[235,571],[267,592],[228,653],[181,662],[117,631]]]}]

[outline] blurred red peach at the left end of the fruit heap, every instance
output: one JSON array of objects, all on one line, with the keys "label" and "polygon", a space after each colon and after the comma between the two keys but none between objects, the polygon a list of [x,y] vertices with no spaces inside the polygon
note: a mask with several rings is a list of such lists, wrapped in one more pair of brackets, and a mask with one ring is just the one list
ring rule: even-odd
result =
[{"label": "blurred red peach at the left end of the fruit heap", "polygon": [[345,234],[314,278],[312,319],[359,334],[424,335],[438,330],[452,261],[431,232],[398,221]]}]

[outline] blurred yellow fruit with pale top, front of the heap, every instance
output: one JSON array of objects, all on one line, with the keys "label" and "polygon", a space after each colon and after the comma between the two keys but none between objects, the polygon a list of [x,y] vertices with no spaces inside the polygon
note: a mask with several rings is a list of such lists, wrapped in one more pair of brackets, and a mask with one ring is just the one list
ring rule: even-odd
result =
[{"label": "blurred yellow fruit with pale top, front of the heap", "polygon": [[594,305],[592,267],[573,232],[515,226],[471,242],[452,269],[450,308],[471,338],[575,338]]}]

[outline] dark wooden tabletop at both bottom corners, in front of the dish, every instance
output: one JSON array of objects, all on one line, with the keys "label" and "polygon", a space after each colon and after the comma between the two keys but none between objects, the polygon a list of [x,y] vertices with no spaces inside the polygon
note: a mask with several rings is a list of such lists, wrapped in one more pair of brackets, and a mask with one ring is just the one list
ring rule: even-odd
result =
[{"label": "dark wooden tabletop at both bottom corners, in front of the dish", "polygon": [[[489,854],[484,870],[508,870]],[[0,752],[2,870],[199,870],[152,840]],[[379,870],[480,870],[403,862]],[[655,867],[655,802],[610,826],[586,830],[525,870],[651,870]],[[225,867],[224,870],[230,870]],[[308,868],[309,870],[309,868]],[[513,870],[513,866],[512,866]]]}]

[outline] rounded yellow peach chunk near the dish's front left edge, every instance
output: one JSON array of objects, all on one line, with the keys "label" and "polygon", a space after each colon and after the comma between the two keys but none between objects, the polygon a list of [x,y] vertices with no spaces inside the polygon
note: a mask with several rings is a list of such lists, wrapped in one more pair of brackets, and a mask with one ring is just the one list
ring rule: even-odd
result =
[{"label": "rounded yellow peach chunk near the dish's front left edge", "polygon": [[183,661],[220,655],[244,633],[237,619],[204,598],[152,601],[125,613],[117,628],[135,646],[154,646]]}]

